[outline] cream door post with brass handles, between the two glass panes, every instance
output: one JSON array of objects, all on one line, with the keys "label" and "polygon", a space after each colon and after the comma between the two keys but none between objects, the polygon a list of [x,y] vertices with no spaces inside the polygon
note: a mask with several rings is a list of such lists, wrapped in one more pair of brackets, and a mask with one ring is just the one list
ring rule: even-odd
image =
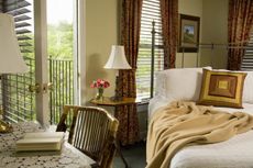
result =
[{"label": "cream door post with brass handles, between the two glass panes", "polygon": [[43,127],[50,126],[48,108],[48,75],[47,75],[47,21],[46,1],[34,0],[34,46],[35,46],[35,83],[38,86],[36,93],[36,120]]}]

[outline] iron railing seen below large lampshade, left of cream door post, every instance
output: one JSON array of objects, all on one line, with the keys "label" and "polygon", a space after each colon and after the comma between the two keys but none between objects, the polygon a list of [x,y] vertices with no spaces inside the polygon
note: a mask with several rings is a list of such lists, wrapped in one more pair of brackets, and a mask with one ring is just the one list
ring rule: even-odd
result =
[{"label": "iron railing seen below large lampshade, left of cream door post", "polygon": [[33,121],[35,116],[34,93],[29,92],[28,86],[34,85],[34,59],[25,58],[30,67],[26,74],[2,75],[1,97],[4,120],[8,122]]}]

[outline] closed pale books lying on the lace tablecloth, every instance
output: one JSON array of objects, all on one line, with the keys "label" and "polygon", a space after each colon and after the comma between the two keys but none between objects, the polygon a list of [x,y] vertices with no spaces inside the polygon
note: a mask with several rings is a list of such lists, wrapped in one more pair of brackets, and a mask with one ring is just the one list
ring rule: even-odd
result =
[{"label": "closed pale books lying on the lace tablecloth", "polygon": [[26,133],[16,141],[16,152],[59,152],[64,142],[64,132]]}]

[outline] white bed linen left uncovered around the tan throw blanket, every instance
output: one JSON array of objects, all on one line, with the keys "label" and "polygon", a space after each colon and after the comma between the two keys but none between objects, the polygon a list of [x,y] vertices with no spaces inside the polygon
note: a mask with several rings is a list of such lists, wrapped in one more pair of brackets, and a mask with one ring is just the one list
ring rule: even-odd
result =
[{"label": "white bed linen left uncovered around the tan throw blanket", "polygon": [[[154,98],[148,105],[148,114],[172,100]],[[253,104],[243,103],[244,109],[217,108],[227,112],[243,111],[253,114]],[[172,159],[170,168],[253,168],[253,131],[237,135],[229,141],[188,146]]]}]

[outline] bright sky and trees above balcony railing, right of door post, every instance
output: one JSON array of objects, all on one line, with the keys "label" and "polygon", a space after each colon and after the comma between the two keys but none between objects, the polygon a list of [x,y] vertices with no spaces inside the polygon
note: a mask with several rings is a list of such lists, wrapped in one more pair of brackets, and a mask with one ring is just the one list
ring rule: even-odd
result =
[{"label": "bright sky and trees above balcony railing, right of door post", "polygon": [[73,59],[73,0],[47,0],[48,55]]}]

